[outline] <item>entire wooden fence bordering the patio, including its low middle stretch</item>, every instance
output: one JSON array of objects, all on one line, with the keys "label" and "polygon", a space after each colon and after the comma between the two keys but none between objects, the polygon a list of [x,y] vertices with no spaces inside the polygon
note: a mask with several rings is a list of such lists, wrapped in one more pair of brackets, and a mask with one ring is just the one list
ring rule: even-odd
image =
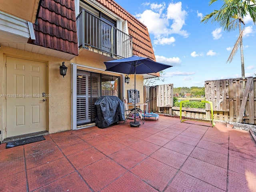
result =
[{"label": "entire wooden fence bordering the patio, including its low middle stretch", "polygon": [[[206,101],[213,104],[213,119],[225,122],[256,124],[256,78],[223,79],[205,82]],[[180,116],[180,108],[173,106],[173,84],[144,86],[144,101],[149,100],[150,112]],[[210,119],[210,105],[205,109],[182,108],[182,116]]]}]

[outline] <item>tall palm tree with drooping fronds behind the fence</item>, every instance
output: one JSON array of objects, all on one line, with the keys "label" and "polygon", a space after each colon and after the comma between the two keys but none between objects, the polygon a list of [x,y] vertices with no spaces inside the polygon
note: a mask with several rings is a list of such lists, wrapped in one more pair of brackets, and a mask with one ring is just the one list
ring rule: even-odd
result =
[{"label": "tall palm tree with drooping fronds behind the fence", "polygon": [[[209,6],[216,2],[217,0],[210,0]],[[234,45],[232,52],[227,60],[227,62],[232,62],[238,47],[240,46],[240,55],[241,55],[241,69],[242,69],[242,79],[245,79],[244,76],[244,51],[243,51],[243,31],[241,28],[241,23],[243,25],[243,18],[247,14],[250,14],[254,24],[256,24],[256,0],[222,0],[224,2],[220,10],[214,10],[212,13],[204,16],[201,22],[208,22],[212,18],[213,22],[219,22],[220,26],[224,30],[232,31],[239,28],[239,36]],[[245,88],[245,82],[243,81],[243,88]]]}]

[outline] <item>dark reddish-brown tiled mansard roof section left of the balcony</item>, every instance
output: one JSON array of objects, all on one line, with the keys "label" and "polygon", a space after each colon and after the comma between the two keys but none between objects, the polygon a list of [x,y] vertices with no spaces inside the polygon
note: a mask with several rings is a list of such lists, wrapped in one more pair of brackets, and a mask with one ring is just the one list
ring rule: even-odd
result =
[{"label": "dark reddish-brown tiled mansard roof section left of the balcony", "polygon": [[32,44],[78,55],[74,0],[42,0]]}]

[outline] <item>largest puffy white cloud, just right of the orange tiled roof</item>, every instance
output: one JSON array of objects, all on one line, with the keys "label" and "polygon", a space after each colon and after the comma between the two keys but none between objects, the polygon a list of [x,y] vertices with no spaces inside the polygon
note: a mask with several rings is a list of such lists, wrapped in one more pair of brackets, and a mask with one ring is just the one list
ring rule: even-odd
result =
[{"label": "largest puffy white cloud, just right of the orange tiled roof", "polygon": [[166,4],[152,3],[150,10],[136,14],[136,18],[147,26],[148,32],[154,35],[154,44],[172,44],[175,38],[171,34],[188,37],[188,32],[183,30],[187,12],[182,10],[182,3]]}]

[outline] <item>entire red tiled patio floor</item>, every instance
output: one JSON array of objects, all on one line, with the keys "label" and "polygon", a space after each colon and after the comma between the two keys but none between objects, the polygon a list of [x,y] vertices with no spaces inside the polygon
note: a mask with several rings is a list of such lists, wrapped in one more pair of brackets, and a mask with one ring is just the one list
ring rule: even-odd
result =
[{"label": "entire red tiled patio floor", "polygon": [[256,192],[248,131],[160,116],[0,145],[1,192]]}]

